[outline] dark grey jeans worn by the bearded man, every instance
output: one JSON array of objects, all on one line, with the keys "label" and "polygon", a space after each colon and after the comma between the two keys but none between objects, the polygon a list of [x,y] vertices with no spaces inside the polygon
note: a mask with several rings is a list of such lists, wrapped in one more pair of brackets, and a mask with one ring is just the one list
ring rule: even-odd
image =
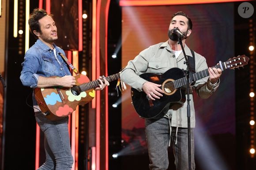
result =
[{"label": "dark grey jeans worn by the bearded man", "polygon": [[[170,140],[169,119],[145,119],[145,132],[151,170],[167,170],[169,166],[168,147]],[[188,128],[171,127],[171,142],[176,170],[188,170]],[[177,137],[177,144],[176,142]],[[194,134],[191,128],[191,169],[195,170]]]}]

